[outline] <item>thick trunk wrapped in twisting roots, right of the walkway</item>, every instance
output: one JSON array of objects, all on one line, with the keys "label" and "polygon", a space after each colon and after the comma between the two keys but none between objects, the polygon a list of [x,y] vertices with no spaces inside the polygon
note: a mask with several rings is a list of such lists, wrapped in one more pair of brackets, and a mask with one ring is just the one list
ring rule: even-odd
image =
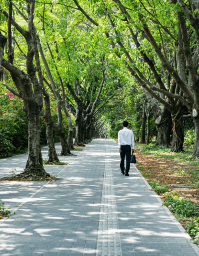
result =
[{"label": "thick trunk wrapped in twisting roots, right of the walkway", "polygon": [[182,152],[184,143],[184,129],[182,124],[182,117],[185,113],[184,108],[179,108],[172,112],[173,122],[173,140],[171,145],[172,152]]}]

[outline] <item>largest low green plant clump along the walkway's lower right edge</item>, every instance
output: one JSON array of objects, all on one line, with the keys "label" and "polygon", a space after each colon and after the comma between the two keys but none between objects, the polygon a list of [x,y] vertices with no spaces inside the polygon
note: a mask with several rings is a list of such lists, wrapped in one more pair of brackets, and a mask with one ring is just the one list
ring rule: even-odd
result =
[{"label": "largest low green plant clump along the walkway's lower right edge", "polygon": [[169,207],[170,211],[176,215],[182,215],[186,217],[199,216],[199,204],[192,203],[191,200],[185,197],[179,197],[177,191],[165,193],[164,205]]}]

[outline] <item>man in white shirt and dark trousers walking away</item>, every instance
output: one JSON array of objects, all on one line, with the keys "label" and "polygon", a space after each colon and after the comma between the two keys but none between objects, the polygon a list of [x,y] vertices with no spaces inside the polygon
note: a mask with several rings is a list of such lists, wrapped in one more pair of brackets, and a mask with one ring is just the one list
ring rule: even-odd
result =
[{"label": "man in white shirt and dark trousers walking away", "polygon": [[[122,174],[125,174],[125,176],[129,176],[131,153],[134,152],[135,142],[134,142],[133,131],[128,129],[129,127],[128,121],[123,121],[122,126],[123,126],[123,130],[120,130],[118,132],[118,140],[117,140],[120,157],[121,157],[120,169]],[[126,155],[126,169],[125,169],[125,155]]]}]

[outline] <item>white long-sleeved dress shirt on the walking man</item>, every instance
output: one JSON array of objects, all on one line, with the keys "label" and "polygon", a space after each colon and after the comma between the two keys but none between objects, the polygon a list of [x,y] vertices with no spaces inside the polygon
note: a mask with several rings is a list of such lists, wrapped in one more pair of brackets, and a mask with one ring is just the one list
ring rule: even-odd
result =
[{"label": "white long-sleeved dress shirt on the walking man", "polygon": [[135,141],[133,136],[133,131],[129,130],[127,127],[124,127],[122,130],[118,132],[118,139],[117,139],[118,148],[121,145],[130,145],[132,148],[135,148]]}]

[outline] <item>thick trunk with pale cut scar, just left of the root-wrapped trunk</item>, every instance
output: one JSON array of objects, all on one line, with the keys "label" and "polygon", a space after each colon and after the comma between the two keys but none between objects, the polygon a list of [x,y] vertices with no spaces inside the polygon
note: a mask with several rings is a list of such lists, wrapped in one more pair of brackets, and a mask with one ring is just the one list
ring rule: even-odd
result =
[{"label": "thick trunk with pale cut scar, just left of the root-wrapped trunk", "polygon": [[155,125],[157,128],[157,141],[156,145],[161,146],[171,146],[170,136],[171,136],[171,112],[164,108],[161,115],[155,120]]}]

